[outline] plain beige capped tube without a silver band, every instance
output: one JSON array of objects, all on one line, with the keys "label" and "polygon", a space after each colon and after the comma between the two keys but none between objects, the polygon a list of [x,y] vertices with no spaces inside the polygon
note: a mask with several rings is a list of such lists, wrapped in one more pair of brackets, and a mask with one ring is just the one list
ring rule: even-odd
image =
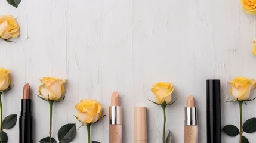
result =
[{"label": "plain beige capped tube without a silver band", "polygon": [[134,143],[147,143],[146,107],[134,107]]}]

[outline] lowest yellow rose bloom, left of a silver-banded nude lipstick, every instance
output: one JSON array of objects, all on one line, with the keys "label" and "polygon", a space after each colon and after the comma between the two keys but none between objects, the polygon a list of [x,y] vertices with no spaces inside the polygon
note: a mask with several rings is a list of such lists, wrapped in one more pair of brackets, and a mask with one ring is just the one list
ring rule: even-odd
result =
[{"label": "lowest yellow rose bloom, left of a silver-banded nude lipstick", "polygon": [[78,110],[78,120],[82,123],[95,123],[100,119],[103,106],[96,100],[81,100],[75,105]]}]

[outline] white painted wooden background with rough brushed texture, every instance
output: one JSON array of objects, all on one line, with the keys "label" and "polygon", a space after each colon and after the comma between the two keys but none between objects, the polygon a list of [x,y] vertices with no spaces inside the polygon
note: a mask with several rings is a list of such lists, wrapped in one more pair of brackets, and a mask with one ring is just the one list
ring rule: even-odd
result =
[{"label": "white painted wooden background with rough brushed texture", "polygon": [[[148,142],[161,142],[162,109],[150,86],[172,82],[177,102],[167,109],[166,128],[174,143],[184,142],[184,106],[195,95],[199,142],[206,142],[206,79],[221,79],[222,122],[239,125],[239,107],[226,103],[237,76],[256,79],[255,15],[243,13],[239,0],[23,0],[18,9],[0,1],[0,14],[12,14],[21,36],[0,40],[0,67],[11,71],[13,89],[3,96],[4,116],[20,114],[25,83],[32,86],[34,140],[48,135],[48,102],[36,97],[39,78],[66,78],[66,99],[54,104],[53,137],[65,123],[77,123],[74,105],[94,98],[109,113],[110,95],[120,92],[124,143],[134,142],[133,107],[148,108]],[[255,95],[256,92],[252,92]],[[243,118],[256,117],[256,101],[243,106]],[[109,119],[92,126],[92,139],[109,142]],[[18,124],[8,130],[18,142]],[[256,133],[246,135],[255,142]],[[81,128],[73,142],[87,142]],[[239,137],[223,133],[223,142]]]}]

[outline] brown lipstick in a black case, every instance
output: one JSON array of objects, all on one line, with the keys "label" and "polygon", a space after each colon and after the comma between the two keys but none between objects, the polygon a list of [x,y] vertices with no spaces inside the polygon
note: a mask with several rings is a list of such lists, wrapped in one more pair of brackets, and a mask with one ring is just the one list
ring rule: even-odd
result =
[{"label": "brown lipstick in a black case", "polygon": [[32,114],[30,86],[27,83],[23,87],[23,99],[20,112],[20,143],[32,143]]}]

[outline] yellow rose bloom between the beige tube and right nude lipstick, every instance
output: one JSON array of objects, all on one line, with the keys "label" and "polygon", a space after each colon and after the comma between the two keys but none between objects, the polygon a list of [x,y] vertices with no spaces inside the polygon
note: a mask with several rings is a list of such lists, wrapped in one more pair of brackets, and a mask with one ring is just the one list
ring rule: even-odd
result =
[{"label": "yellow rose bloom between the beige tube and right nude lipstick", "polygon": [[162,105],[165,101],[166,104],[169,104],[171,102],[171,94],[174,91],[174,87],[172,86],[172,83],[159,82],[152,86],[151,91],[155,94],[156,103]]}]

